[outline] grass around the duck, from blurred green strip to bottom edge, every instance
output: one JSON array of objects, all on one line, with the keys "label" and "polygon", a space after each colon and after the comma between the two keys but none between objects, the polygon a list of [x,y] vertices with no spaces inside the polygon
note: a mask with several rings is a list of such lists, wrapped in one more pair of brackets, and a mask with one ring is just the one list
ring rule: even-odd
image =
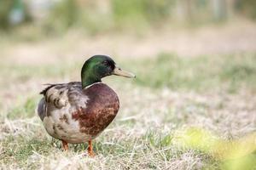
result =
[{"label": "grass around the duck, from blurred green strip to bottom edge", "polygon": [[[255,167],[253,149],[234,161],[212,154],[214,147],[206,149],[200,145],[201,141],[210,144],[215,139],[229,143],[255,132],[255,54],[195,58],[159,54],[153,59],[117,60],[126,70],[135,72],[137,79],[104,79],[119,94],[121,108],[114,122],[96,139],[95,158],[84,156],[87,144],[70,144],[70,150],[62,151],[61,142],[49,137],[34,113],[40,98],[38,92],[43,88],[40,84],[79,79],[81,61],[61,61],[58,65],[2,64],[0,93],[6,104],[1,102],[0,107],[0,167]],[[3,79],[3,75],[9,77]],[[194,136],[187,137],[186,129],[194,127],[209,133],[192,131]],[[189,138],[188,145],[177,143],[181,135]]]}]

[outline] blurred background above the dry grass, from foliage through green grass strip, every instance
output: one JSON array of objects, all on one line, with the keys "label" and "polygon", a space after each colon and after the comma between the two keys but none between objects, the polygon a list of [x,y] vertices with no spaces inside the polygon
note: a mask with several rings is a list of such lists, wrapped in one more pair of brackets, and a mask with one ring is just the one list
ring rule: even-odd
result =
[{"label": "blurred background above the dry grass, from foliage through green grass strip", "polygon": [[3,88],[42,74],[79,79],[71,73],[94,54],[137,71],[137,85],[255,87],[253,0],[9,0],[0,20]]}]

